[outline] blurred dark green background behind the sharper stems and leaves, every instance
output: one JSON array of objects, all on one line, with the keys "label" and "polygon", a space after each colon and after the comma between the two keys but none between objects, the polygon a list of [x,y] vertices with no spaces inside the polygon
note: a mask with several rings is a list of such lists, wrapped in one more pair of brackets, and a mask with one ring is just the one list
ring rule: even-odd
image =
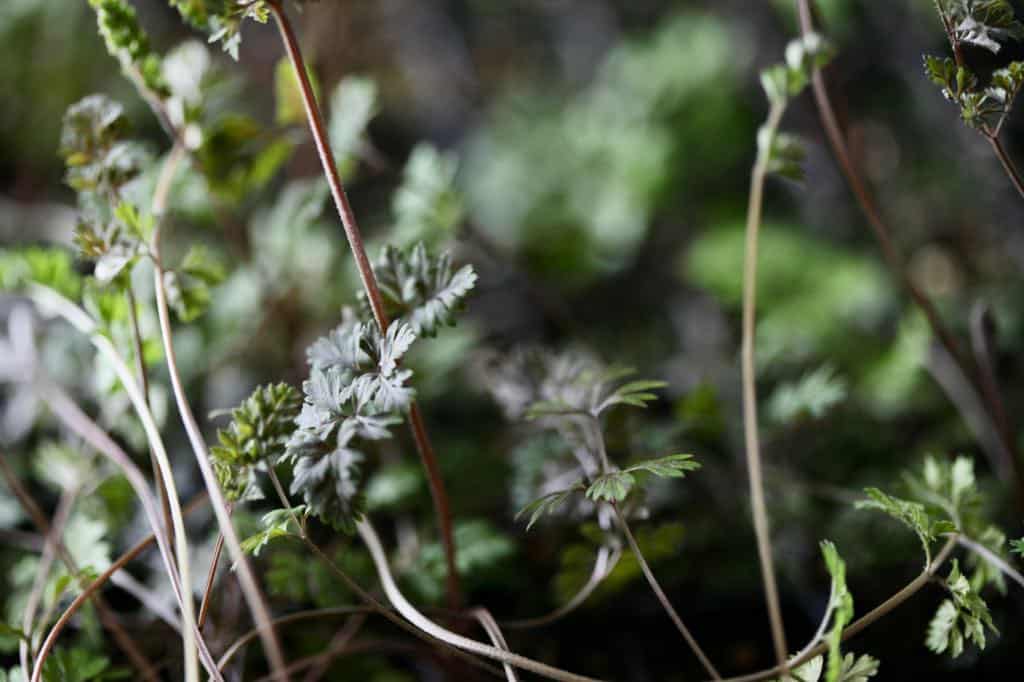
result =
[{"label": "blurred dark green background behind the sharper stems and leaves", "polygon": [[[985,140],[957,121],[923,75],[922,54],[946,50],[931,3],[819,4],[839,47],[827,75],[855,161],[909,271],[947,324],[966,338],[972,306],[991,307],[997,374],[1016,418],[1024,388],[1024,200]],[[136,5],[158,50],[196,37],[163,3]],[[651,492],[651,519],[641,524],[645,549],[721,670],[770,666],[743,465],[738,303],[750,167],[767,111],[758,71],[778,61],[794,36],[792,3],[324,0],[296,20],[325,90],[351,74],[378,84],[373,150],[348,185],[372,244],[391,233],[392,194],[415,144],[432,142],[458,160],[464,219],[436,241],[453,246],[481,279],[466,322],[414,366],[456,518],[476,522],[461,540],[476,557],[465,578],[472,602],[499,617],[529,616],[564,601],[589,573],[592,543],[579,524],[553,519],[527,535],[513,520],[530,499],[529,462],[559,447],[507,424],[476,371],[487,349],[582,345],[669,382],[650,411],[615,413],[608,424],[609,447],[621,461],[692,452],[703,464],[685,481]],[[238,84],[230,106],[280,132],[273,79],[282,51],[273,28],[247,26],[238,63],[212,50]],[[1012,47],[997,59],[1022,51]],[[56,146],[60,117],[81,96],[102,91],[119,98],[154,152],[167,151],[156,120],[106,55],[85,2],[3,3],[0,83],[0,239],[7,244],[67,243],[74,196],[61,183]],[[1024,158],[1019,118],[1004,135],[1014,158]],[[759,382],[776,563],[790,645],[798,649],[827,598],[819,540],[831,539],[846,557],[858,613],[920,569],[911,534],[853,511],[850,501],[865,485],[898,488],[899,472],[925,454],[966,454],[977,461],[993,518],[1010,537],[1022,535],[1022,524],[1009,486],[992,476],[937,382],[942,369],[929,352],[927,327],[884,269],[809,94],[794,102],[783,127],[806,140],[807,179],[769,182]],[[198,414],[233,403],[258,382],[298,382],[305,345],[336,324],[338,307],[354,293],[330,208],[292,239],[287,216],[267,217],[288,181],[318,173],[303,128],[288,134],[297,146],[264,190],[219,204],[201,193],[177,209],[181,222],[232,266],[266,255],[259,253],[264,232],[286,235],[284,242],[266,239],[287,245],[291,259],[258,292],[244,282],[224,285],[215,296],[229,301],[226,310],[180,333]],[[284,224],[267,226],[274,220]],[[771,406],[779,391],[825,366],[845,384],[845,399],[819,418],[776,417]],[[172,413],[168,429],[176,428]],[[52,503],[54,492],[32,474],[37,440],[14,443],[11,457]],[[181,434],[176,442],[184,487],[195,491]],[[394,528],[412,529],[413,556],[397,563],[414,594],[437,601],[436,547],[420,544],[435,538],[430,500],[404,434],[381,461],[370,475],[399,487],[375,512],[377,524],[389,539]],[[259,511],[253,507],[254,518]],[[212,530],[197,525],[196,532]],[[375,584],[355,545],[319,532],[364,584]],[[129,535],[110,540],[127,547]],[[19,553],[3,552],[10,572]],[[298,546],[261,557],[275,611],[350,602],[311,563]],[[233,589],[225,581],[215,604],[222,624],[231,622]],[[926,588],[848,648],[879,657],[883,680],[1016,679],[1024,670],[1024,598],[1019,590],[986,596],[1001,635],[984,655],[969,647],[950,660],[925,648],[927,623],[942,598],[937,588]],[[176,644],[162,642],[168,638],[159,624],[135,613],[127,596],[114,598],[139,619],[147,646],[173,655]],[[284,631],[290,655],[322,649],[336,627],[312,622]],[[380,624],[367,628],[398,637]],[[231,634],[215,637],[227,642]],[[507,634],[514,650],[589,675],[639,681],[699,674],[627,560],[571,616],[544,631]],[[254,671],[262,665],[257,653],[250,651]],[[371,652],[339,659],[328,679],[436,679],[436,671],[421,657]],[[450,672],[449,679],[463,674]]]}]

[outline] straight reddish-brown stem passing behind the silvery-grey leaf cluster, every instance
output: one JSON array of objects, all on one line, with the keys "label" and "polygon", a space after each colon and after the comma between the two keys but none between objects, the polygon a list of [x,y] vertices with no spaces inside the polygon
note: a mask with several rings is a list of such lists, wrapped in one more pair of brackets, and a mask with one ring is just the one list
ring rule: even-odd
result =
[{"label": "straight reddish-brown stem passing behind the silvery-grey leaf cluster", "polygon": [[[313,93],[312,84],[309,82],[306,71],[305,59],[299,49],[299,42],[295,37],[291,20],[285,13],[284,8],[278,0],[267,2],[273,13],[278,29],[281,33],[281,40],[285,50],[292,62],[292,70],[295,73],[302,94],[302,103],[305,108],[306,118],[309,123],[309,130],[316,146],[316,154],[319,156],[321,164],[324,167],[324,175],[331,188],[331,196],[334,199],[335,208],[341,218],[342,227],[345,230],[345,238],[348,246],[352,250],[352,257],[355,259],[356,268],[359,271],[359,280],[362,282],[362,289],[370,302],[374,319],[382,332],[388,328],[388,315],[384,309],[384,301],[381,298],[380,288],[377,286],[377,278],[373,267],[370,265],[370,258],[367,256],[366,247],[362,244],[362,235],[359,231],[358,223],[355,221],[355,214],[348,203],[344,185],[338,174],[338,164],[335,161],[334,153],[328,141],[324,127],[324,117],[321,114],[319,105],[316,103],[316,96]],[[459,587],[459,572],[456,564],[455,538],[452,531],[452,512],[449,506],[447,493],[444,489],[444,481],[440,475],[440,467],[434,455],[433,446],[423,422],[423,416],[419,407],[414,402],[409,412],[409,424],[413,431],[413,439],[416,441],[416,450],[420,455],[423,468],[426,471],[427,479],[430,482],[430,494],[433,498],[434,511],[437,516],[437,524],[441,534],[441,545],[444,548],[444,561],[447,568],[447,601],[453,609],[459,608],[462,604],[461,589]]]}]

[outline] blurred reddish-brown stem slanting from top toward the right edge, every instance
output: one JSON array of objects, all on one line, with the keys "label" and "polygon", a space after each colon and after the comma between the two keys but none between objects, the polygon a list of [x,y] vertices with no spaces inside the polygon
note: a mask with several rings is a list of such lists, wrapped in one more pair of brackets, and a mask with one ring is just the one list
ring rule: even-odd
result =
[{"label": "blurred reddish-brown stem slanting from top toward the right edge", "polygon": [[[796,0],[796,3],[797,10],[800,15],[801,32],[804,36],[808,36],[814,32],[811,0]],[[953,44],[953,51],[956,56],[957,63],[959,63],[963,60],[963,55],[961,54],[959,43],[955,39],[955,36],[951,37],[951,42]],[[882,255],[886,261],[886,265],[892,273],[893,279],[899,283],[899,285],[913,301],[914,305],[916,305],[925,314],[935,339],[945,348],[950,357],[953,358],[956,367],[967,378],[968,382],[974,387],[975,390],[982,394],[982,400],[984,400],[989,418],[993,422],[993,429],[997,431],[1000,439],[1004,440],[1004,444],[1006,445],[1008,452],[1013,455],[1013,482],[1017,487],[1017,502],[1019,505],[1024,506],[1024,471],[1021,470],[1021,465],[1019,463],[1017,442],[1013,437],[1008,437],[1006,432],[995,426],[995,415],[998,413],[998,408],[992,404],[990,396],[984,391],[978,369],[971,360],[971,357],[961,348],[959,343],[956,341],[952,333],[950,333],[948,328],[946,328],[945,323],[942,322],[942,317],[939,315],[938,309],[935,307],[935,304],[927,295],[925,295],[923,291],[921,291],[921,289],[918,288],[904,267],[902,256],[893,241],[892,230],[882,218],[882,214],[879,211],[878,206],[874,204],[874,199],[868,191],[867,186],[860,175],[860,171],[857,170],[857,167],[853,163],[852,157],[847,147],[846,137],[843,135],[843,130],[840,127],[839,119],[836,116],[836,109],[833,106],[831,98],[828,95],[828,89],[825,86],[824,76],[822,75],[820,68],[815,68],[811,74],[811,87],[814,91],[814,100],[818,109],[818,114],[821,118],[821,125],[824,128],[825,136],[828,138],[828,143],[831,146],[833,153],[836,155],[836,159],[843,171],[843,175],[846,177],[850,190],[853,193],[857,204],[860,206],[861,211],[867,218],[871,231],[874,233],[874,238],[882,249]],[[997,144],[998,140],[995,140],[995,143]],[[1011,179],[1013,179],[1014,175],[1015,173],[1011,173]],[[1017,177],[1019,178],[1019,175]]]}]

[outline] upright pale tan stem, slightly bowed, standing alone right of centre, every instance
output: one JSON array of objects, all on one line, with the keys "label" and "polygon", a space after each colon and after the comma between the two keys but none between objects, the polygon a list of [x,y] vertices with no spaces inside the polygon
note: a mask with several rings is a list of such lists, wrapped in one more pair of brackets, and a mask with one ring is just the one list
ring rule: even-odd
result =
[{"label": "upright pale tan stem, slightly bowed, standing alone right of centre", "polygon": [[778,585],[772,558],[771,531],[768,527],[768,512],[765,508],[764,476],[761,471],[761,440],[758,435],[758,394],[755,368],[755,338],[757,318],[758,286],[758,236],[761,230],[761,213],[764,203],[765,178],[771,139],[785,111],[784,104],[773,102],[765,123],[767,139],[761,142],[758,158],[751,173],[750,204],[746,212],[746,250],[743,259],[743,322],[742,322],[742,382],[743,382],[743,434],[746,443],[746,468],[751,479],[751,508],[754,513],[754,531],[757,536],[758,557],[761,560],[761,580],[764,583],[765,600],[771,624],[775,658],[785,666],[785,629],[782,625],[782,609],[779,606]]}]

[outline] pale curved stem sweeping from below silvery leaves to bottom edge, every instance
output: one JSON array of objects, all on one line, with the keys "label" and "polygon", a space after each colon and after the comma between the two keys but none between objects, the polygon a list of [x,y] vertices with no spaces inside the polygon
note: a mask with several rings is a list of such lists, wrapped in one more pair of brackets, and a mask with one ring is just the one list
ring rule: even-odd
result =
[{"label": "pale curved stem sweeping from below silvery leaves to bottom edge", "polygon": [[394,578],[391,576],[391,568],[388,565],[387,557],[384,555],[384,548],[381,546],[380,538],[377,537],[377,531],[374,530],[370,521],[364,518],[356,524],[355,527],[359,537],[362,539],[362,542],[366,544],[367,549],[370,550],[370,556],[377,569],[377,577],[380,579],[381,586],[384,588],[384,594],[387,595],[388,601],[391,602],[391,604],[395,607],[395,610],[401,613],[407,621],[423,632],[427,633],[431,637],[441,640],[442,642],[451,644],[452,646],[463,649],[464,651],[486,656],[487,658],[494,658],[495,660],[503,664],[510,664],[516,668],[521,668],[522,670],[536,673],[548,679],[565,680],[566,682],[595,682],[594,678],[568,673],[558,668],[548,666],[547,664],[521,656],[517,653],[511,653],[482,642],[469,639],[468,637],[457,635],[451,630],[445,630],[440,627],[417,610],[416,607],[413,606],[408,599],[406,599],[406,596],[398,589],[398,586],[395,585]]}]

